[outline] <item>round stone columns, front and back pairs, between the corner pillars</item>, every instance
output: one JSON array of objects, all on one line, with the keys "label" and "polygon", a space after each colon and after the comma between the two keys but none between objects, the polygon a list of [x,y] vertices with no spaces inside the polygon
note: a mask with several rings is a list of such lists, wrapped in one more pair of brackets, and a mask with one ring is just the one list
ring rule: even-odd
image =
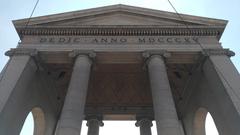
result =
[{"label": "round stone columns, front and back pairs, between the corner pillars", "polygon": [[[146,52],[143,56],[146,58],[149,72],[157,131],[163,135],[177,135],[182,134],[182,127],[179,125],[164,63],[166,54],[165,51]],[[71,56],[75,57],[75,63],[57,135],[80,134],[92,57],[95,54],[75,51]],[[98,135],[100,123],[97,119],[88,121],[88,135]],[[149,120],[142,119],[136,125],[140,127],[141,135],[151,135],[151,122]]]}]

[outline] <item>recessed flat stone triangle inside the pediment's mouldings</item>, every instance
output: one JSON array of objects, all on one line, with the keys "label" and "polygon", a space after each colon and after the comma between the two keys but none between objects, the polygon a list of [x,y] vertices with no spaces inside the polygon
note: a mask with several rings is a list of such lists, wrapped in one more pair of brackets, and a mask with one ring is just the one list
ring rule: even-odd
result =
[{"label": "recessed flat stone triangle inside the pediment's mouldings", "polygon": [[87,18],[75,18],[50,22],[41,25],[54,26],[86,26],[86,25],[184,25],[181,22],[164,20],[162,18],[153,18],[149,16],[129,14],[124,12],[115,12],[111,14],[102,14],[90,16]]}]

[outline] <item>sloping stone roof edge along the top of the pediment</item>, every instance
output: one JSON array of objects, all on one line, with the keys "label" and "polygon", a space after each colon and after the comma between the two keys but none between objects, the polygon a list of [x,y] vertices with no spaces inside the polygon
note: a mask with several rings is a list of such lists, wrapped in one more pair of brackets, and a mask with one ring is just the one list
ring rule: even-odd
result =
[{"label": "sloping stone roof edge along the top of the pediment", "polygon": [[[183,18],[183,20],[181,20],[181,18],[178,16],[178,14],[173,13],[173,12],[161,11],[161,10],[149,9],[149,8],[143,8],[143,7],[136,7],[136,6],[129,6],[129,5],[123,5],[123,4],[109,5],[109,6],[103,6],[103,7],[83,9],[83,10],[78,10],[78,11],[71,11],[71,12],[58,13],[58,14],[52,14],[52,15],[46,15],[46,16],[33,17],[30,19],[29,24],[30,25],[35,24],[34,22],[38,22],[38,24],[40,24],[40,23],[47,23],[47,22],[51,22],[51,21],[61,21],[61,20],[65,20],[65,19],[73,19],[73,18],[78,18],[78,17],[91,16],[94,14],[103,14],[106,12],[114,12],[114,11],[135,12],[138,14],[155,16],[155,17],[167,16],[168,19],[173,19],[173,20],[178,20],[178,21],[186,21],[186,22],[198,22],[198,23],[203,23],[203,24],[223,25],[223,26],[226,26],[226,24],[227,24],[227,21],[222,20],[222,19],[200,17],[200,16],[186,15],[186,14],[179,14]],[[13,20],[13,24],[15,27],[22,25],[22,24],[26,24],[28,22],[28,19],[29,18]]]}]

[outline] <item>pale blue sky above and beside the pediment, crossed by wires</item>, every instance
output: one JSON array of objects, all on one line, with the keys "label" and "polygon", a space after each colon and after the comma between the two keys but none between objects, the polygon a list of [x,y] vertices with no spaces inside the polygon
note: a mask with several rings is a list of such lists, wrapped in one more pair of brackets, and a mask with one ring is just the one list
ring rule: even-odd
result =
[{"label": "pale blue sky above and beside the pediment, crossed by wires", "polygon": [[[12,20],[28,18],[32,12],[35,2],[36,0],[0,1],[0,71],[8,60],[8,57],[4,56],[4,53],[10,48],[15,48],[19,41],[19,37],[12,24]],[[240,31],[240,1],[171,0],[171,2],[179,13],[218,18],[229,21],[220,42],[224,48],[230,48],[236,53],[236,56],[232,57],[231,59],[239,71],[240,47],[238,47],[238,40],[240,39],[240,34],[238,32]],[[49,15],[113,4],[126,4],[174,12],[167,0],[40,0],[33,16]],[[30,117],[28,119],[30,119]],[[131,122],[128,122],[128,124],[129,123]],[[209,123],[211,124],[211,122],[208,122],[208,124]],[[122,125],[126,126],[128,124],[125,123]],[[137,131],[137,128],[135,128],[135,130]],[[30,128],[27,128],[27,131],[30,131]],[[123,132],[124,130],[119,131]],[[28,135],[28,133],[25,132],[21,135]],[[211,135],[214,134],[212,133]]]}]

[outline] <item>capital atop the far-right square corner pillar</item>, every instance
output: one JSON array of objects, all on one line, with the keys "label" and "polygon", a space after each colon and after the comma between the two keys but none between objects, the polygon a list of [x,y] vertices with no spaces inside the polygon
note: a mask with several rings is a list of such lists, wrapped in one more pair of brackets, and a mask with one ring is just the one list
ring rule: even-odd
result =
[{"label": "capital atop the far-right square corner pillar", "polygon": [[226,55],[228,57],[232,57],[235,53],[229,49],[204,49],[204,56],[212,56],[212,55]]}]

